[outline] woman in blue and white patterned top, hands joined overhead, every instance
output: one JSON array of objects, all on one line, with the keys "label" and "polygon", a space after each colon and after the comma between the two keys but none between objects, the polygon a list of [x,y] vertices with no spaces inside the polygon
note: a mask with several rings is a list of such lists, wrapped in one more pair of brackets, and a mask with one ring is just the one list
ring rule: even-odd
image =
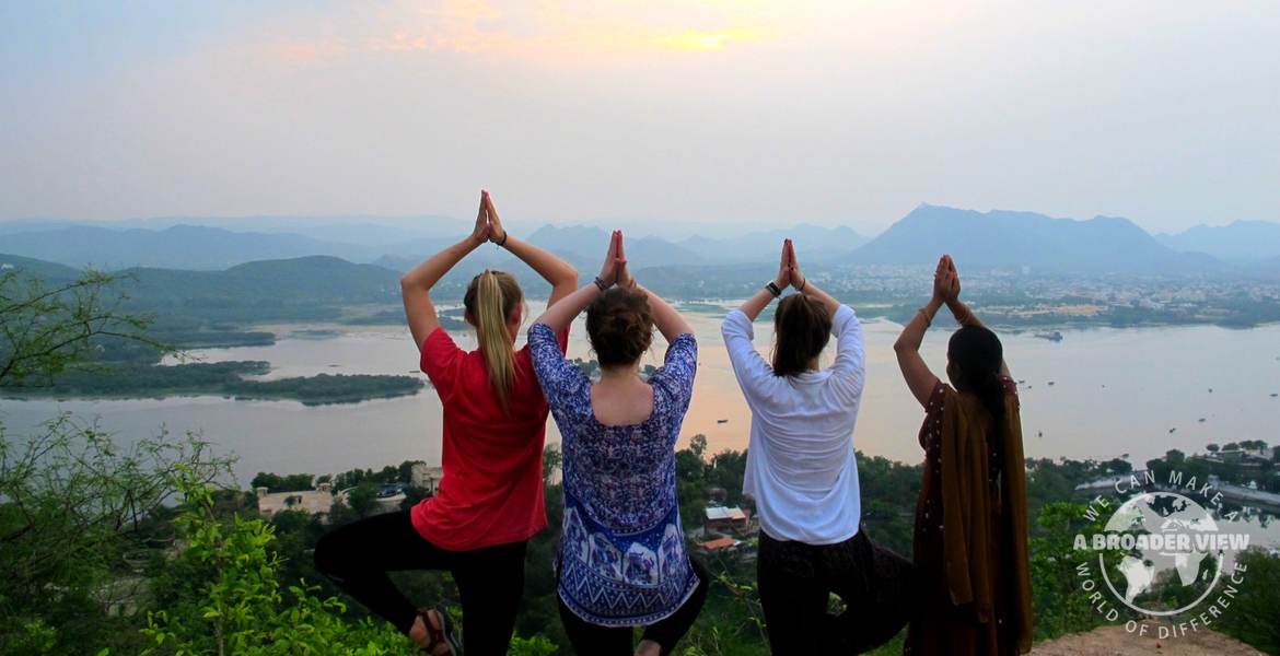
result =
[{"label": "woman in blue and white patterned top, hands joined overhead", "polygon": [[[556,344],[586,309],[600,362],[591,380]],[[653,329],[668,341],[648,381],[640,357]],[[594,283],[564,297],[529,329],[534,371],[564,451],[564,519],[557,561],[564,632],[581,655],[671,653],[707,596],[708,575],[685,552],[676,501],[676,439],[694,389],[698,341],[660,297],[626,269],[614,231]]]}]

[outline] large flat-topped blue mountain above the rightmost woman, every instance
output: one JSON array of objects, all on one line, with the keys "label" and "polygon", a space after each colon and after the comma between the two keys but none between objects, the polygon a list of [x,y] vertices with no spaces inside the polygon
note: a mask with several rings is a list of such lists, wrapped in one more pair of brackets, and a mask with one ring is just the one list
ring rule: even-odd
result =
[{"label": "large flat-topped blue mountain above the rightmost woman", "polygon": [[859,265],[928,265],[951,253],[961,265],[1036,271],[1139,271],[1181,258],[1128,219],[1087,221],[1033,212],[977,212],[920,205],[849,256]]}]

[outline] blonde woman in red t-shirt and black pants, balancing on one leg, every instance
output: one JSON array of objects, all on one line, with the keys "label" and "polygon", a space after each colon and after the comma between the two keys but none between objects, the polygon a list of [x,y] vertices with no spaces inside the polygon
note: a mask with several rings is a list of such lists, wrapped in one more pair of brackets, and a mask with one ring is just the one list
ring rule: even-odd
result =
[{"label": "blonde woman in red t-shirt and black pants, balancing on one leg", "polygon": [[[547,526],[543,440],[547,400],[529,347],[515,349],[524,294],[511,274],[486,270],[467,286],[466,320],[480,348],[460,349],[440,326],[430,290],[485,242],[522,260],[548,283],[548,306],[577,289],[577,271],[509,237],[488,192],[475,230],[401,279],[410,331],[422,371],[444,404],[444,477],[434,497],[412,510],[343,526],[316,543],[316,568],[343,591],[404,632],[429,653],[460,653],[448,616],[416,610],[388,572],[443,569],[462,597],[470,656],[507,653],[525,584],[525,545]],[[561,350],[568,330],[557,335]]]}]

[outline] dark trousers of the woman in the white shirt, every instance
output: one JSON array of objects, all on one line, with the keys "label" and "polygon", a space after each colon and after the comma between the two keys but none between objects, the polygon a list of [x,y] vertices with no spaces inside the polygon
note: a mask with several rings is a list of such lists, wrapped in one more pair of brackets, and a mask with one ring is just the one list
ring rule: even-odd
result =
[{"label": "dark trousers of the woman in the white shirt", "polygon": [[[760,532],[760,605],[774,656],[861,653],[906,625],[915,592],[909,560],[863,531],[835,545],[778,541]],[[827,613],[835,592],[846,610]]]}]

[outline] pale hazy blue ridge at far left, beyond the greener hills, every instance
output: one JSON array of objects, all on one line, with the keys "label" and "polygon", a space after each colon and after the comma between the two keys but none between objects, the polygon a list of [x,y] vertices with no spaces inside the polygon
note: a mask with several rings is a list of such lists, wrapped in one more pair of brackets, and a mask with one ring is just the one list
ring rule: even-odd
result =
[{"label": "pale hazy blue ridge at far left, beyond the greener hills", "polygon": [[4,249],[74,267],[119,270],[134,266],[219,270],[259,260],[328,254],[372,260],[371,247],[321,242],[287,233],[233,233],[221,228],[175,225],[164,230],[118,230],[76,225],[4,235]]}]

